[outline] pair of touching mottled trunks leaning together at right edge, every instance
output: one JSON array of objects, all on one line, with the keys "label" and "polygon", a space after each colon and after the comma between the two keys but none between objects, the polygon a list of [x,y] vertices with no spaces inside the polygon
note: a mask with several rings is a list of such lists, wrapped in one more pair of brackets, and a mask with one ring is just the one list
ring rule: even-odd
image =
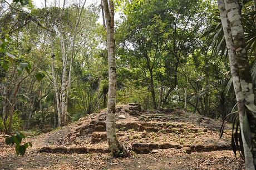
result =
[{"label": "pair of touching mottled trunks leaning together at right edge", "polygon": [[[246,56],[245,41],[243,40],[243,27],[242,22],[240,22],[238,2],[225,1],[224,3],[223,0],[218,0],[218,7],[220,11],[220,18],[223,26],[225,41],[228,48],[230,70],[233,79],[235,96],[237,98],[239,121],[245,154],[245,164],[247,169],[254,169],[255,158],[253,161],[253,153],[250,146],[251,136],[250,132],[248,132],[250,131],[250,128],[248,127],[249,122],[247,113],[245,112],[245,104],[254,103],[254,94],[252,87],[250,87],[252,86],[252,84],[250,84],[250,82],[252,82],[250,80],[251,78],[249,78],[250,73],[247,72],[247,75],[244,74],[245,70],[249,69],[249,63]],[[244,64],[244,66],[241,64]],[[247,88],[246,91],[244,91],[245,88]],[[254,126],[255,125],[253,125],[253,127]],[[255,136],[255,134],[253,135]]]}]

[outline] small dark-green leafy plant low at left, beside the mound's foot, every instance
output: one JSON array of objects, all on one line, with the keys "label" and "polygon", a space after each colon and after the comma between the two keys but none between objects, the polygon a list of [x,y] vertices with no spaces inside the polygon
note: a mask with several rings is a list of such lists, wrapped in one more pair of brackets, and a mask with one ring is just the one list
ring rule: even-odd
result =
[{"label": "small dark-green leafy plant low at left, beside the mound's foot", "polygon": [[25,136],[23,133],[21,132],[17,132],[16,134],[12,135],[11,137],[7,137],[6,138],[6,144],[7,145],[12,145],[16,144],[16,154],[19,155],[21,154],[22,156],[25,154],[26,149],[30,146],[32,147],[32,143],[31,142],[27,142],[24,144],[21,144],[22,139],[24,139]]}]

